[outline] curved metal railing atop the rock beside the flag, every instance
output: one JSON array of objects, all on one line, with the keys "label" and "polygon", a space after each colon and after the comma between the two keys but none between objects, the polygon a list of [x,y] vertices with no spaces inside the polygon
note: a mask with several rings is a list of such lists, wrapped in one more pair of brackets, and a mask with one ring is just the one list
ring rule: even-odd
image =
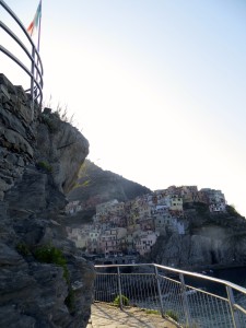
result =
[{"label": "curved metal railing atop the rock beside the flag", "polygon": [[12,61],[14,61],[30,78],[30,89],[25,92],[31,93],[33,103],[42,104],[43,101],[43,65],[42,59],[38,54],[36,46],[34,45],[31,36],[26,32],[25,26],[15,15],[15,13],[8,7],[8,4],[0,0],[0,5],[5,10],[8,15],[17,24],[20,32],[24,33],[23,40],[27,42],[30,49],[24,45],[21,38],[19,38],[2,21],[0,21],[0,27],[17,44],[21,50],[27,57],[31,68],[28,69],[15,55],[13,55],[9,49],[0,45],[0,51],[8,56]]}]

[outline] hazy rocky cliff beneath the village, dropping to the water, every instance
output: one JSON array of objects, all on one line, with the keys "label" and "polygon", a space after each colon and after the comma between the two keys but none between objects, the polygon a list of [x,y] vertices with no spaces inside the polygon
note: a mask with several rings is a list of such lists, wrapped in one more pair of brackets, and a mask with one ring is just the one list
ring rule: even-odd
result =
[{"label": "hazy rocky cliff beneath the village, dropping to the water", "polygon": [[185,204],[186,234],[160,236],[150,255],[154,262],[199,270],[246,265],[246,220],[227,207],[211,214],[202,203]]}]

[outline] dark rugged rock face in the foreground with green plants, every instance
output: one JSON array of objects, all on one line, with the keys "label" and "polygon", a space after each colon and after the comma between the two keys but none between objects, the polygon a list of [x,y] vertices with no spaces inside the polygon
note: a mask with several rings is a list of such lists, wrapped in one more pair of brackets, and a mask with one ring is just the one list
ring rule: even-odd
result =
[{"label": "dark rugged rock face in the foreground with green plants", "polygon": [[63,192],[87,153],[75,128],[0,74],[1,327],[86,327],[95,272],[67,239]]}]

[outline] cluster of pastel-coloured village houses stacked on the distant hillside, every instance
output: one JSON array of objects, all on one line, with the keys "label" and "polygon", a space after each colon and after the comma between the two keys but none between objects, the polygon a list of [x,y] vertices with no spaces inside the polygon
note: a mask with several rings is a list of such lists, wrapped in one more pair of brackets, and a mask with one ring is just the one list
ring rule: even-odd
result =
[{"label": "cluster of pastel-coloured village houses stacked on the distant hillside", "polygon": [[[68,236],[89,255],[101,254],[106,258],[144,256],[159,236],[167,233],[186,234],[184,207],[192,202],[207,204],[211,213],[226,212],[226,201],[221,190],[171,186],[131,201],[119,202],[114,199],[97,204],[93,223],[67,227]],[[80,201],[71,201],[66,208],[68,215],[82,210]]]}]

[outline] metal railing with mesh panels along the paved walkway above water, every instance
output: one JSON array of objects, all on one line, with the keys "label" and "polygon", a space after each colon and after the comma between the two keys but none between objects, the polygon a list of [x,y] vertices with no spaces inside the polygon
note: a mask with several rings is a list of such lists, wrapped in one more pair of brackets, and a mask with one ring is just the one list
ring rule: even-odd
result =
[{"label": "metal railing with mesh panels along the paved walkway above water", "polygon": [[95,269],[95,301],[118,296],[120,308],[155,309],[187,328],[246,327],[246,289],[229,281],[154,263]]}]

